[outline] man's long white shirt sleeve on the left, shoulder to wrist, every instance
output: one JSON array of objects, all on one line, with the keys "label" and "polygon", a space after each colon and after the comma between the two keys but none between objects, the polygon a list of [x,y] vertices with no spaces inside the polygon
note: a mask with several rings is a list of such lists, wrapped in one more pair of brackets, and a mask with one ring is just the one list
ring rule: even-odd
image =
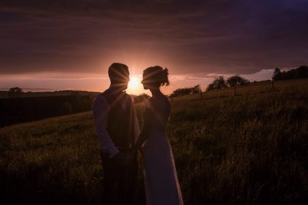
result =
[{"label": "man's long white shirt sleeve on the left, shoulder to wrist", "polygon": [[93,102],[92,110],[99,146],[103,152],[107,152],[109,157],[112,158],[119,150],[114,146],[114,142],[107,131],[108,109],[109,105],[105,97],[97,96]]}]

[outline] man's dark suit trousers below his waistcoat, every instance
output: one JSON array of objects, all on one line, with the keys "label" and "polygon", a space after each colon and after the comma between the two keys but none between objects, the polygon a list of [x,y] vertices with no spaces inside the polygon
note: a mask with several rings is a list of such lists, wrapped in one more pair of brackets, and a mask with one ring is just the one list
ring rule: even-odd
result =
[{"label": "man's dark suit trousers below his waistcoat", "polygon": [[119,166],[101,152],[103,165],[103,204],[131,205],[136,202],[137,155],[129,165]]}]

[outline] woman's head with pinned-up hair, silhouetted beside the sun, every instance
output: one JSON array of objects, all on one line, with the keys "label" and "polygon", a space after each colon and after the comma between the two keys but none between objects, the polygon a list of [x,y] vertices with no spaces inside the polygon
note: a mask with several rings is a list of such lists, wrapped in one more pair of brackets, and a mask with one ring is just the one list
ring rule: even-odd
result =
[{"label": "woman's head with pinned-up hair, silhouetted beside the sun", "polygon": [[160,86],[169,85],[168,69],[160,66],[153,66],[146,68],[143,71],[143,77],[141,83],[144,89],[158,88]]}]

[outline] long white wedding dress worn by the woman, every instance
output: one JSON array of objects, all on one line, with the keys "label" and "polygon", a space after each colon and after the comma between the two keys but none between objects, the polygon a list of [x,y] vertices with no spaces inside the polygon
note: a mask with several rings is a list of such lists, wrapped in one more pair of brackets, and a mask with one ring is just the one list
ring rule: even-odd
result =
[{"label": "long white wedding dress worn by the woman", "polygon": [[147,205],[183,204],[175,160],[166,135],[170,109],[165,96],[149,98],[145,103],[144,123],[151,124],[143,149]]}]

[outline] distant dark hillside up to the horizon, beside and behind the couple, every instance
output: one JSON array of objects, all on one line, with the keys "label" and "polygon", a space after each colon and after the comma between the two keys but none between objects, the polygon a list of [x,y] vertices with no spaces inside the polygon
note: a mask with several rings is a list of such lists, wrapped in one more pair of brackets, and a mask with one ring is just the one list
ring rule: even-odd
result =
[{"label": "distant dark hillside up to the horizon, beside and behind the couple", "polygon": [[[0,92],[0,127],[60,115],[90,111],[100,92],[62,90],[55,92]],[[131,95],[133,99],[137,96]]]}]

